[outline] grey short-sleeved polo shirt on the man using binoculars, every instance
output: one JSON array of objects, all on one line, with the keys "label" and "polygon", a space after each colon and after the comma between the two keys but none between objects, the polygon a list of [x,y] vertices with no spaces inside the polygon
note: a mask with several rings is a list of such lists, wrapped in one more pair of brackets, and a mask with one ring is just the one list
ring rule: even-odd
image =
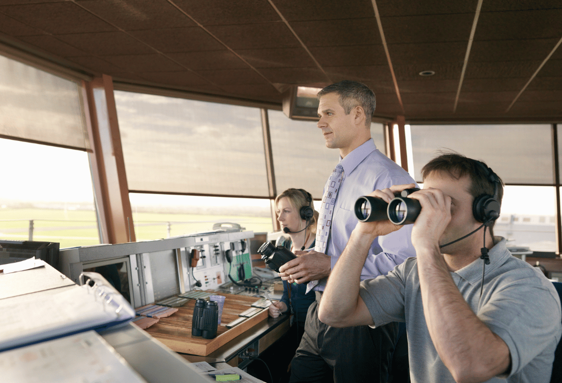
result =
[{"label": "grey short-sleeved polo shirt on the man using binoculars", "polygon": [[[505,239],[496,237],[496,242],[488,254],[482,298],[482,259],[451,276],[472,311],[509,347],[507,381],[549,382],[562,334],[558,293],[536,267],[511,256]],[[362,281],[359,293],[375,325],[406,322],[412,382],[454,382],[425,323],[416,258],[406,259],[386,276]]]}]

